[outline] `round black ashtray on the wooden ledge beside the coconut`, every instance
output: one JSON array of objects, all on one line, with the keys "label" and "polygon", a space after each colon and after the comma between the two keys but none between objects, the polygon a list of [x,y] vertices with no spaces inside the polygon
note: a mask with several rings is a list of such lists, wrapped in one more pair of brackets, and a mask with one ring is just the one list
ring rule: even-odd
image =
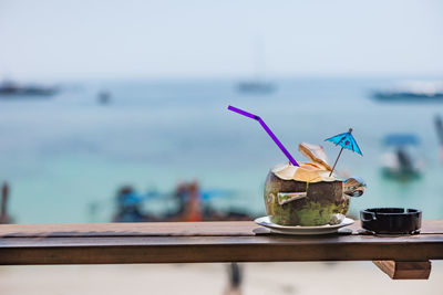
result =
[{"label": "round black ashtray on the wooden ledge beside the coconut", "polygon": [[422,211],[404,208],[371,208],[360,211],[361,226],[382,234],[415,234],[422,226]]}]

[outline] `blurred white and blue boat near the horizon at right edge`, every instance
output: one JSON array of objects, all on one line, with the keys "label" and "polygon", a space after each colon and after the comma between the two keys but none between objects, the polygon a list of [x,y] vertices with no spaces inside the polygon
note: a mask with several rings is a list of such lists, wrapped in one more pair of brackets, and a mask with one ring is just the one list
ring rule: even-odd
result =
[{"label": "blurred white and blue boat near the horizon at right edge", "polygon": [[443,102],[443,82],[409,82],[392,88],[374,91],[372,97],[383,102]]}]

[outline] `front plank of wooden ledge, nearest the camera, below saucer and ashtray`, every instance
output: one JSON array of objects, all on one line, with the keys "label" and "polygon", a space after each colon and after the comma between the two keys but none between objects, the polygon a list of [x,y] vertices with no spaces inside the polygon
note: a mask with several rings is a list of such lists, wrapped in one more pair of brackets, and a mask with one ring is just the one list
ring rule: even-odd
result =
[{"label": "front plank of wooden ledge, nearest the camera, below saucer and ashtray", "polygon": [[0,264],[443,260],[441,236],[380,240],[356,235],[9,238],[1,240]]}]

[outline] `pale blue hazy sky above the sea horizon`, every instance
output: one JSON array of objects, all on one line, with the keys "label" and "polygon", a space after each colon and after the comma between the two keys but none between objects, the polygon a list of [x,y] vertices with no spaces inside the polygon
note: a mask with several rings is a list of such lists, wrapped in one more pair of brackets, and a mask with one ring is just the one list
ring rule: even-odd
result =
[{"label": "pale blue hazy sky above the sea horizon", "polygon": [[426,0],[0,0],[0,80],[441,76],[442,15]]}]

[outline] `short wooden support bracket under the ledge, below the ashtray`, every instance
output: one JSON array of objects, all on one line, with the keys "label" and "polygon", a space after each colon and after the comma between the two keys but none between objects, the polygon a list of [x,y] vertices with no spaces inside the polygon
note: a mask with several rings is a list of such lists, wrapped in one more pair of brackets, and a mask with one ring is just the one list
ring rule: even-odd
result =
[{"label": "short wooden support bracket under the ledge, below the ashtray", "polygon": [[431,273],[430,261],[372,261],[392,280],[427,280]]}]

